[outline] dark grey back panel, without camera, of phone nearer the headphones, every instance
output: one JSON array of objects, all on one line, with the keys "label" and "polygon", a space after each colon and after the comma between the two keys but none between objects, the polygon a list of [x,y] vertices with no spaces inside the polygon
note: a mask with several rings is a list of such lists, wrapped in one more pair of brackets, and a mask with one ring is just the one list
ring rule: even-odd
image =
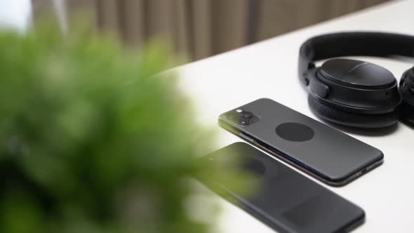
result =
[{"label": "dark grey back panel, without camera, of phone nearer the headphones", "polygon": [[238,131],[330,180],[348,178],[383,158],[379,149],[274,100],[262,98],[237,109],[253,112],[258,121],[248,126],[234,124],[221,116],[220,121],[232,124]]}]

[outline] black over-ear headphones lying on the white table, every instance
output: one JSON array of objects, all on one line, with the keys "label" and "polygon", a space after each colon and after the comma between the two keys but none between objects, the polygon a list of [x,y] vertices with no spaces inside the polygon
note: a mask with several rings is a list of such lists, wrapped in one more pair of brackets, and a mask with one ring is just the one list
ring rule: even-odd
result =
[{"label": "black over-ear headphones lying on the white table", "polygon": [[[414,67],[399,88],[387,69],[341,56],[401,55],[414,58],[414,36],[342,32],[315,36],[300,47],[298,72],[316,116],[344,126],[381,128],[401,117],[414,124]],[[320,67],[315,61],[330,59]]]}]

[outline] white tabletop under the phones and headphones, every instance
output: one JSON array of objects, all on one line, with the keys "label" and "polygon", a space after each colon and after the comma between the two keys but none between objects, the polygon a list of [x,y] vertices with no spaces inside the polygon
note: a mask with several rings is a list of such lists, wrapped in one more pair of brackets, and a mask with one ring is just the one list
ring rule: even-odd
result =
[{"label": "white tabletop under the phones and headphones", "polygon": [[[349,30],[414,35],[414,1],[382,4],[184,65],[176,69],[181,75],[180,86],[194,100],[199,121],[208,126],[218,128],[219,114],[263,97],[316,119],[307,105],[307,93],[298,81],[298,49],[310,36]],[[363,59],[386,67],[397,79],[414,65],[413,61]],[[218,131],[218,148],[240,140],[222,129]],[[385,163],[345,187],[323,186],[366,211],[366,222],[354,232],[413,232],[413,128],[399,123],[388,135],[349,135],[381,149]],[[219,202],[224,206],[224,213],[220,215],[218,232],[273,232],[232,204]]]}]

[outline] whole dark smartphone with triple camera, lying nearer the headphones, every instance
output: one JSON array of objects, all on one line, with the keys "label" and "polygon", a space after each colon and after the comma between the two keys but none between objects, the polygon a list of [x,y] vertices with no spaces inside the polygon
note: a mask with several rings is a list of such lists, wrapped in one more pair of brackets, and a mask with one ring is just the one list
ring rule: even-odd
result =
[{"label": "whole dark smartphone with triple camera, lying nearer the headphones", "polygon": [[219,124],[328,185],[346,185],[384,158],[379,149],[267,98],[221,114]]}]

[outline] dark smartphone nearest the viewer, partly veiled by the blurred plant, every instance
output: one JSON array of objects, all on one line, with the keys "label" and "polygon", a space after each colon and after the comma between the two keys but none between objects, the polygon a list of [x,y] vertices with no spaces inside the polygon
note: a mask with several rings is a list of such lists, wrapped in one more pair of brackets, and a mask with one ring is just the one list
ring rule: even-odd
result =
[{"label": "dark smartphone nearest the viewer, partly veiled by the blurred plant", "polygon": [[255,174],[255,192],[240,194],[214,176],[201,182],[277,232],[350,232],[365,220],[359,206],[246,143],[202,159],[209,163],[228,157],[237,157],[244,171]]}]

